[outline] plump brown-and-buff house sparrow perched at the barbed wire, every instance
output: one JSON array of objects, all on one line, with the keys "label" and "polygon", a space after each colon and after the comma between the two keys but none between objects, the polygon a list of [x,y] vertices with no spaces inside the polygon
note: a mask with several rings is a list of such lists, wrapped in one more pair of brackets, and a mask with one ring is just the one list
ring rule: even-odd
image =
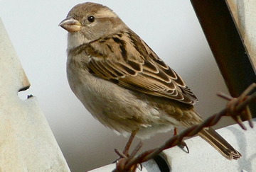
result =
[{"label": "plump brown-and-buff house sparrow perched at the barbed wire", "polygon": [[[60,26],[68,30],[70,88],[103,125],[149,138],[203,122],[198,101],[181,76],[107,6],[74,6]],[[198,133],[227,159],[240,153],[212,128]]]}]

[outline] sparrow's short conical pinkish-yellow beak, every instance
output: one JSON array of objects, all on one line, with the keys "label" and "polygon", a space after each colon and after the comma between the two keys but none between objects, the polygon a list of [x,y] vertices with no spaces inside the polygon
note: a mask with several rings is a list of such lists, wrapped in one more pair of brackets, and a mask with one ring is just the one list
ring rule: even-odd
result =
[{"label": "sparrow's short conical pinkish-yellow beak", "polygon": [[65,18],[60,22],[59,26],[67,30],[69,33],[77,32],[81,30],[81,23],[74,18]]}]

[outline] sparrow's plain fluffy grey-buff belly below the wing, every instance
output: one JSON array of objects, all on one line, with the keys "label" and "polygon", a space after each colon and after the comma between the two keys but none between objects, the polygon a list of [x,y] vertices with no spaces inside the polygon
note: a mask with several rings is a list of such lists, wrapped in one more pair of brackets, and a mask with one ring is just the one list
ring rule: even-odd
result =
[{"label": "sparrow's plain fluffy grey-buff belly below the wing", "polygon": [[126,88],[91,74],[70,76],[74,75],[68,74],[70,88],[85,108],[103,125],[120,134],[127,136],[139,129],[137,137],[147,138],[178,125],[174,118]]}]

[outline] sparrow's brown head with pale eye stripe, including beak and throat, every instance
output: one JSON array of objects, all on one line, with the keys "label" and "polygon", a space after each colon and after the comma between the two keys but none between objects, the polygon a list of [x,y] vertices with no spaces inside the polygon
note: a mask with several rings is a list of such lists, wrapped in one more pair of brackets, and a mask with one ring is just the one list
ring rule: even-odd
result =
[{"label": "sparrow's brown head with pale eye stripe, including beak and throat", "polygon": [[68,50],[127,28],[110,8],[91,2],[74,6],[59,25],[68,31]]}]

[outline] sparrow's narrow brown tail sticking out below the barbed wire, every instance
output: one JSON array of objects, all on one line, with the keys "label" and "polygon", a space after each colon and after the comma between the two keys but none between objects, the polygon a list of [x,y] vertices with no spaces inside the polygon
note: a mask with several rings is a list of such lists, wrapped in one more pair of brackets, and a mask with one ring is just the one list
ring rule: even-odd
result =
[{"label": "sparrow's narrow brown tail sticking out below the barbed wire", "polygon": [[242,156],[211,127],[203,128],[201,132],[198,132],[198,135],[218,150],[226,159],[239,159]]}]

